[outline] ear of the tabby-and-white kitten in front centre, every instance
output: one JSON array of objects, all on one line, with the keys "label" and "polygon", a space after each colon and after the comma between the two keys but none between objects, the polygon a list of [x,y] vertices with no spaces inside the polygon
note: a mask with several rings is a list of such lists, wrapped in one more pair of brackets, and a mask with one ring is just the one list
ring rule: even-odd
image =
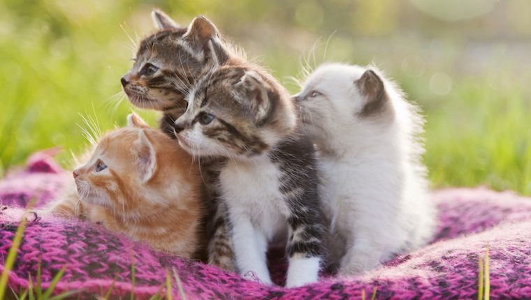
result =
[{"label": "ear of the tabby-and-white kitten in front centre", "polygon": [[260,75],[249,70],[245,72],[245,75],[243,75],[242,80],[238,84],[247,91],[247,95],[249,96],[247,100],[256,116],[256,120],[265,118],[270,109],[270,101],[265,82],[263,82]]}]

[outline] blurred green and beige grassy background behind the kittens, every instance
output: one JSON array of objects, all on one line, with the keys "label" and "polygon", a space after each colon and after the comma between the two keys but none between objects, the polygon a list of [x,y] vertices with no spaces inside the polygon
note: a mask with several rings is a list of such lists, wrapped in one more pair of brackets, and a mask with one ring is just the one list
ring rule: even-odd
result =
[{"label": "blurred green and beige grassy background behind the kittens", "polygon": [[0,0],[0,177],[56,145],[68,165],[87,145],[83,117],[124,125],[129,36],[154,30],[157,7],[183,26],[206,15],[293,92],[305,59],[376,63],[425,113],[434,188],[531,195],[528,0]]}]

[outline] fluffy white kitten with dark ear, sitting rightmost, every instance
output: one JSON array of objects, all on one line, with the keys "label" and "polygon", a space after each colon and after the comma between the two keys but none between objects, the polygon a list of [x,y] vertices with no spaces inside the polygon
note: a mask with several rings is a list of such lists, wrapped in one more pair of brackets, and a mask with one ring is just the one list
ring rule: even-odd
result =
[{"label": "fluffy white kitten with dark ear, sitting rightmost", "polygon": [[432,237],[423,119],[374,66],[325,64],[295,96],[319,149],[331,234],[328,264],[348,275],[377,267]]}]

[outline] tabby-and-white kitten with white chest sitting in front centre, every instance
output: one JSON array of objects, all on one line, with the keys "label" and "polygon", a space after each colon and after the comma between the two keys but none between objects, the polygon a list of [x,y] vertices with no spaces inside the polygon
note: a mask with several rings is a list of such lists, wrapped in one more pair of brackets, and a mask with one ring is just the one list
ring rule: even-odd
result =
[{"label": "tabby-and-white kitten with white chest sitting in front centre", "polygon": [[226,158],[217,170],[219,200],[242,276],[272,283],[266,250],[279,239],[287,241],[286,286],[317,281],[323,238],[319,181],[312,142],[298,128],[289,93],[246,63],[201,77],[188,101],[175,133],[194,156]]}]

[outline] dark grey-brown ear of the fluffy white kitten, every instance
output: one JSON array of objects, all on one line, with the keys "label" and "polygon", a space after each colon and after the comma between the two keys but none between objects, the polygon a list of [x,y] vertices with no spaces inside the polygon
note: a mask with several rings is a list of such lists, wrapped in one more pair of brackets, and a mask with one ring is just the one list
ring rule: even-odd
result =
[{"label": "dark grey-brown ear of the fluffy white kitten", "polygon": [[383,112],[388,103],[388,95],[384,82],[373,70],[366,70],[360,79],[354,82],[358,86],[361,96],[365,97],[365,105],[359,113],[360,117]]}]

